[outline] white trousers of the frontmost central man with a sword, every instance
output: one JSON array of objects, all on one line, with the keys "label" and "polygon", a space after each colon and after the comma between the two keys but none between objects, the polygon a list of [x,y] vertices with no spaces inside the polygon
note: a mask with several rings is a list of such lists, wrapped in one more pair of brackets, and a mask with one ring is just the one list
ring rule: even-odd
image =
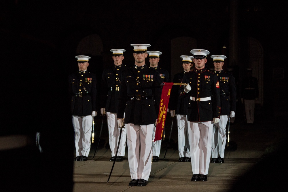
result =
[{"label": "white trousers of the frontmost central man with a sword", "polygon": [[125,124],[131,179],[148,180],[152,164],[154,124]]}]

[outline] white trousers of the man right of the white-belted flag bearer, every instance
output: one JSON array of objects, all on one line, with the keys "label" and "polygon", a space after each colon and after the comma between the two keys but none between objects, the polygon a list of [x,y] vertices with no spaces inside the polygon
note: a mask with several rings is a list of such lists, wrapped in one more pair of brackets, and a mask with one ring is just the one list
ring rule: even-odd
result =
[{"label": "white trousers of the man right of the white-belted flag bearer", "polygon": [[219,123],[213,124],[212,132],[212,158],[224,158],[226,147],[226,126],[229,115],[220,115]]}]

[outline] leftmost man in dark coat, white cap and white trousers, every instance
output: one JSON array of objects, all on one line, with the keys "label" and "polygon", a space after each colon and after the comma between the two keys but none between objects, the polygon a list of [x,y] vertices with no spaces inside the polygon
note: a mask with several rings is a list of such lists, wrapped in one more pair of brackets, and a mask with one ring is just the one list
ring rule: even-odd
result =
[{"label": "leftmost man in dark coat, white cap and white trousers", "polygon": [[79,71],[69,75],[72,123],[75,132],[76,157],[74,161],[87,161],[91,147],[93,117],[96,111],[96,75],[87,71],[90,57],[78,55]]}]

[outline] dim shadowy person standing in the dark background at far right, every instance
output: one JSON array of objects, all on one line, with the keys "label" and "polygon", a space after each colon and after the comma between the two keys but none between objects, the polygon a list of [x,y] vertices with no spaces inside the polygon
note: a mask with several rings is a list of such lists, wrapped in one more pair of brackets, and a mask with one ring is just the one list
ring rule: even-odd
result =
[{"label": "dim shadowy person standing in the dark background at far right", "polygon": [[247,77],[244,78],[241,88],[241,102],[244,104],[247,124],[253,125],[255,101],[259,97],[258,80],[256,77],[252,77],[252,68],[247,68],[246,71]]}]

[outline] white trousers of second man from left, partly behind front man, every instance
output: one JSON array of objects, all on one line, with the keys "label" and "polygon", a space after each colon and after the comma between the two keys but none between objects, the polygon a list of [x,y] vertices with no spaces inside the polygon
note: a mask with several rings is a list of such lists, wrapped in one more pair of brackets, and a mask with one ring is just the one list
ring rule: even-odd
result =
[{"label": "white trousers of second man from left, partly behind front man", "polygon": [[117,151],[117,145],[119,142],[119,136],[120,136],[120,128],[118,128],[117,123],[117,113],[110,113],[106,111],[107,115],[107,125],[108,125],[108,133],[109,133],[109,145],[111,149],[111,155],[114,156],[125,156],[125,148],[126,148],[126,129],[122,129],[118,154],[116,154]]}]

